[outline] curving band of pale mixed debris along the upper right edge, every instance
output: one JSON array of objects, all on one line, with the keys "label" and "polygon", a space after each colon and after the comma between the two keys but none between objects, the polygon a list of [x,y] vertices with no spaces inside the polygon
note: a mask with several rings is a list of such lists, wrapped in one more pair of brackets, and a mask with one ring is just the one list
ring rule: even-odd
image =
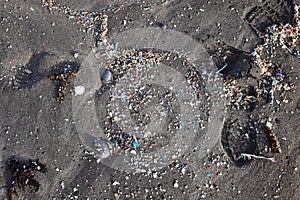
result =
[{"label": "curving band of pale mixed debris along the upper right edge", "polygon": [[[300,30],[300,7],[295,5],[294,8],[295,24],[274,24],[268,27],[266,30],[267,34],[263,36],[264,43],[258,45],[251,53],[253,63],[258,67],[261,74],[259,83],[256,86],[256,96],[249,96],[248,98],[245,90],[237,87],[237,79],[227,78],[224,82],[224,88],[229,101],[228,106],[235,107],[236,109],[247,109],[249,108],[249,103],[254,105],[259,99],[266,99],[267,103],[273,105],[275,101],[279,102],[279,100],[275,98],[276,91],[279,91],[281,95],[283,95],[285,91],[295,89],[295,86],[288,81],[286,74],[283,72],[283,68],[271,61],[271,58],[276,55],[277,46],[282,46],[283,49],[287,49],[289,53],[296,57],[299,55],[294,49],[296,49]],[[253,16],[248,17],[252,18]],[[217,51],[211,54],[219,68],[219,72],[226,75],[230,72],[230,62],[236,62],[239,52],[234,51],[234,49],[226,50],[224,47],[219,47]],[[233,61],[230,61],[230,59]],[[235,70],[237,70],[237,68],[240,67],[235,64]],[[236,73],[234,76],[239,77],[240,74]]]}]

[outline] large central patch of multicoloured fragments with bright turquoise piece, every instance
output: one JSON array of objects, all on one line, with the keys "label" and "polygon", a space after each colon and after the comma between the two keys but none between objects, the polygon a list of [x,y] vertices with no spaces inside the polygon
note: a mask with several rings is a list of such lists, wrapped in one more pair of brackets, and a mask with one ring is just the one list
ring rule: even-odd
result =
[{"label": "large central patch of multicoloured fragments with bright turquoise piece", "polygon": [[[114,47],[110,45],[107,47],[106,53],[110,56],[109,49],[113,50]],[[168,88],[148,83],[150,79],[153,79],[150,71],[157,70],[156,66],[160,63],[166,64],[173,61],[181,63],[182,76],[185,77],[187,85],[192,88],[195,99],[201,105],[193,108],[201,113],[196,116],[197,120],[193,126],[199,125],[201,129],[205,128],[205,121],[208,117],[205,113],[208,113],[209,106],[204,106],[204,102],[209,94],[195,66],[187,64],[179,58],[180,56],[172,53],[138,50],[113,51],[115,57],[105,69],[112,73],[112,78],[111,81],[104,82],[99,95],[110,93],[110,100],[106,104],[108,116],[104,127],[107,137],[115,144],[115,148],[131,150],[134,154],[137,150],[153,151],[167,144],[176,131],[186,125],[184,119],[181,119],[180,105],[176,95]],[[126,112],[123,110],[124,106],[120,106],[120,101],[129,102]],[[155,110],[153,110],[154,107]],[[153,125],[151,121],[162,124],[165,134],[155,135],[151,131],[145,131],[145,127]],[[134,135],[125,131],[126,128],[132,126],[135,127],[133,128]]]}]

